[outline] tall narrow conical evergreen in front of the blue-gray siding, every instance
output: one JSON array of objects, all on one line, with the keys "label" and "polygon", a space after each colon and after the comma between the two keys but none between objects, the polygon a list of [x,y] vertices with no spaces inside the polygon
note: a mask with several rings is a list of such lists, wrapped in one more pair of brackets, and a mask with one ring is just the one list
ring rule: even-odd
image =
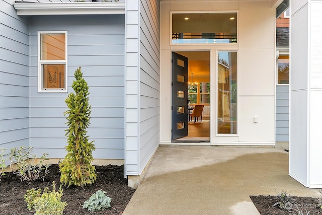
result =
[{"label": "tall narrow conical evergreen in front of the blue-gray siding", "polygon": [[93,161],[92,151],[95,150],[93,141],[89,142],[87,128],[90,125],[91,106],[89,104],[89,87],[81,73],[81,67],[76,69],[75,81],[71,87],[75,94],[70,93],[65,100],[68,110],[66,129],[67,155],[59,164],[60,182],[64,186],[76,185],[84,186],[92,184],[96,180],[95,167],[91,165]]}]

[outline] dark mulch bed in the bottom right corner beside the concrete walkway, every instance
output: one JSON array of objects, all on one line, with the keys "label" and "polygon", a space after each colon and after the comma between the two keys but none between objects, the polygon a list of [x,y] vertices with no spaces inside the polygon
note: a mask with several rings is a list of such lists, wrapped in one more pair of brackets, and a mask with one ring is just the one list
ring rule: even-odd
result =
[{"label": "dark mulch bed in the bottom right corner beside the concrete walkway", "polygon": [[[306,215],[308,212],[310,215],[322,214],[322,209],[317,208],[317,198],[312,197],[298,197],[292,196],[292,199],[297,203],[296,206],[291,210],[282,210],[277,205],[272,206],[276,200],[274,200],[274,196],[250,196],[253,203],[255,204],[257,210],[261,213],[261,215],[288,215],[288,214],[304,214]],[[303,213],[298,213],[301,211]]]}]

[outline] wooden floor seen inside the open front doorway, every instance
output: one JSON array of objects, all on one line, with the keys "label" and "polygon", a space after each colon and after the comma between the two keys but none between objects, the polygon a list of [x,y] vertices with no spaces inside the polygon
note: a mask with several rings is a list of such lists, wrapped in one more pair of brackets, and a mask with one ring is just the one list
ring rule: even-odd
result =
[{"label": "wooden floor seen inside the open front doorway", "polygon": [[[205,117],[206,118],[206,117]],[[209,117],[202,122],[188,123],[188,136],[176,139],[178,141],[209,141]]]}]

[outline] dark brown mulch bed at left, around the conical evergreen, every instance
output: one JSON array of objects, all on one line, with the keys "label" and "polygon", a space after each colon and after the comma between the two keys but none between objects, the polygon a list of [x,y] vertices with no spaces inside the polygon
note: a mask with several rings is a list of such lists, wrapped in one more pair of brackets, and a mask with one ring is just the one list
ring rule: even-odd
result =
[{"label": "dark brown mulch bed at left, around the conical evergreen", "polygon": [[[122,166],[95,166],[97,179],[94,184],[86,187],[70,186],[63,188],[62,201],[66,201],[67,206],[63,214],[122,214],[127,203],[134,194],[134,189],[128,187],[127,179],[124,178],[124,165]],[[45,180],[33,182],[21,182],[20,177],[12,173],[2,176],[0,182],[0,214],[34,214],[35,210],[28,210],[24,195],[28,189],[48,187],[52,189],[52,181],[56,183],[56,190],[60,185],[60,172],[58,165],[50,165],[50,173]],[[111,207],[106,210],[90,212],[83,209],[84,201],[88,200],[92,194],[102,189],[106,195],[112,198]]]}]

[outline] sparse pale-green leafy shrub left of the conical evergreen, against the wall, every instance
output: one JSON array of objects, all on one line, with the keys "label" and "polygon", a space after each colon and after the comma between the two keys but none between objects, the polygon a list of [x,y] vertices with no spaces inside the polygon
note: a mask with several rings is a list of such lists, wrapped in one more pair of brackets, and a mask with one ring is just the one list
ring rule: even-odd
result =
[{"label": "sparse pale-green leafy shrub left of the conical evergreen, against the wall", "polygon": [[[38,178],[45,180],[45,176],[49,173],[49,164],[45,164],[48,160],[48,153],[37,158],[32,155],[32,147],[12,148],[10,151],[10,167],[13,169],[13,174],[19,175],[21,181],[34,181]],[[44,175],[40,177],[40,173]]]}]

